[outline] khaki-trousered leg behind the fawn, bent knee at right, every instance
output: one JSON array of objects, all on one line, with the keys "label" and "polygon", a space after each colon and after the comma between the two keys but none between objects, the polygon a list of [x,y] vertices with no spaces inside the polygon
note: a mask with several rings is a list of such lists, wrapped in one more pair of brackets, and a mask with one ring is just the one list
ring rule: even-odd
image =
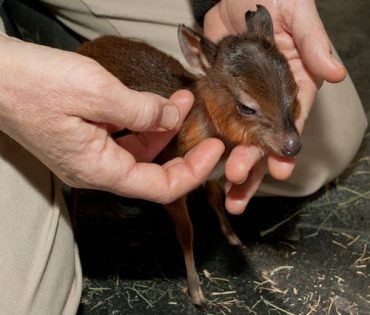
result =
[{"label": "khaki-trousered leg behind the fawn, bent knee at right", "polygon": [[[105,1],[104,4],[99,0],[43,2],[81,36],[91,39],[108,32],[134,37],[180,61],[184,59],[177,42],[177,24],[196,25],[189,0],[178,1],[176,6],[172,0]],[[77,17],[83,18],[77,22]],[[259,194],[304,196],[318,190],[347,167],[366,127],[366,116],[351,79],[347,77],[339,84],[325,83],[306,123],[303,149],[292,177],[277,182],[267,176]]]}]

